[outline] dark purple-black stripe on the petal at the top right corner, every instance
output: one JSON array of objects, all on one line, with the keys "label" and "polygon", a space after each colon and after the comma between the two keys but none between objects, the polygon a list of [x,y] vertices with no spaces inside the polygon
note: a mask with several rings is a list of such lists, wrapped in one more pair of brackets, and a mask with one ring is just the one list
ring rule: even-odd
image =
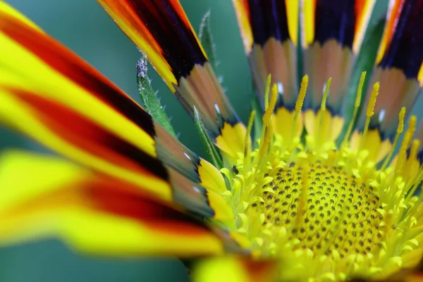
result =
[{"label": "dark purple-black stripe on the petal at the top right corner", "polygon": [[399,68],[407,78],[417,78],[423,62],[423,0],[405,0],[382,68]]}]

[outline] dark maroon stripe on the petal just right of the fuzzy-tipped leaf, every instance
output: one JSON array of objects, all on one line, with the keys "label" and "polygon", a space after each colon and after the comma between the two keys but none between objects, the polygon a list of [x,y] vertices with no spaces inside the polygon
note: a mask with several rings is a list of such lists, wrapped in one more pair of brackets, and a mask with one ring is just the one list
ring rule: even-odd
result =
[{"label": "dark maroon stripe on the petal just right of the fuzzy-tipped leaf", "polygon": [[195,64],[203,65],[207,61],[194,33],[175,10],[176,1],[126,1],[156,39],[176,80],[190,75]]}]

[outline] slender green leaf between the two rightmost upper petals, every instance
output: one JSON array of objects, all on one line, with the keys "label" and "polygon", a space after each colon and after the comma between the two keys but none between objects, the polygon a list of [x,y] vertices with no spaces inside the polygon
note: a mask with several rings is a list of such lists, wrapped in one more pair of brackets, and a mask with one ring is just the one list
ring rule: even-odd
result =
[{"label": "slender green leaf between the two rightmost upper petals", "polygon": [[[355,97],[357,95],[357,88],[360,82],[361,73],[363,71],[367,72],[367,77],[363,85],[363,92],[362,92],[363,94],[362,94],[360,109],[358,111],[359,113],[360,113],[362,104],[365,101],[365,94],[367,93],[367,87],[370,81],[369,78],[371,78],[371,73],[374,67],[374,63],[376,61],[376,54],[379,49],[379,43],[381,42],[381,38],[384,33],[384,27],[385,27],[385,19],[379,18],[379,20],[376,20],[375,23],[369,26],[368,31],[366,32],[366,35],[364,36],[362,47],[360,49],[360,54],[357,57],[357,61],[355,61],[355,66],[353,68],[353,73],[351,75],[350,87],[348,87],[348,92],[345,97],[345,113],[344,113],[345,123],[344,123],[343,131],[341,135],[338,137],[338,142],[342,142],[343,138],[345,137],[345,134],[347,133],[348,125],[350,124],[350,121],[353,118]],[[358,114],[357,117],[355,118],[355,121],[353,121],[354,124],[357,122],[357,118],[359,116],[360,114]]]}]

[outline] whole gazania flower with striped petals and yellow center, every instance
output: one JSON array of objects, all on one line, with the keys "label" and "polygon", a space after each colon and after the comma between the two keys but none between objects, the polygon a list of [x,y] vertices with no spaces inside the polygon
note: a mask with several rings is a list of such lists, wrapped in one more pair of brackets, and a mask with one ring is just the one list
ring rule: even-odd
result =
[{"label": "whole gazania flower with striped petals and yellow center", "polygon": [[2,154],[1,245],[54,236],[84,254],[201,258],[199,281],[418,279],[422,135],[407,113],[423,1],[390,1],[347,103],[374,1],[233,0],[258,101],[245,124],[177,0],[98,1],[209,159],[173,135],[145,61],[147,111],[0,1],[0,121],[65,157]]}]

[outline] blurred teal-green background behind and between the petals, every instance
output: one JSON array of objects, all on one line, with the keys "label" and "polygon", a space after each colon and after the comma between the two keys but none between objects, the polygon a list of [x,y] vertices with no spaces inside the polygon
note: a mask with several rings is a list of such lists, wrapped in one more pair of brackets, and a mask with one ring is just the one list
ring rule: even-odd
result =
[{"label": "blurred teal-green background behind and between the petals", "polygon": [[[121,33],[94,0],[6,0],[92,64],[137,102],[135,63],[140,52]],[[223,87],[240,117],[247,118],[250,108],[250,71],[244,56],[235,14],[228,0],[181,0],[192,26],[209,9],[211,26],[221,60],[219,74]],[[0,47],[1,48],[1,47]],[[153,86],[159,90],[166,111],[180,140],[202,153],[194,125],[168,91],[161,78],[150,71]],[[42,149],[9,130],[0,128],[0,148]],[[82,231],[83,232],[83,231]],[[30,243],[0,250],[0,281],[188,281],[185,267],[177,259],[99,259],[79,257],[59,241]]]}]

